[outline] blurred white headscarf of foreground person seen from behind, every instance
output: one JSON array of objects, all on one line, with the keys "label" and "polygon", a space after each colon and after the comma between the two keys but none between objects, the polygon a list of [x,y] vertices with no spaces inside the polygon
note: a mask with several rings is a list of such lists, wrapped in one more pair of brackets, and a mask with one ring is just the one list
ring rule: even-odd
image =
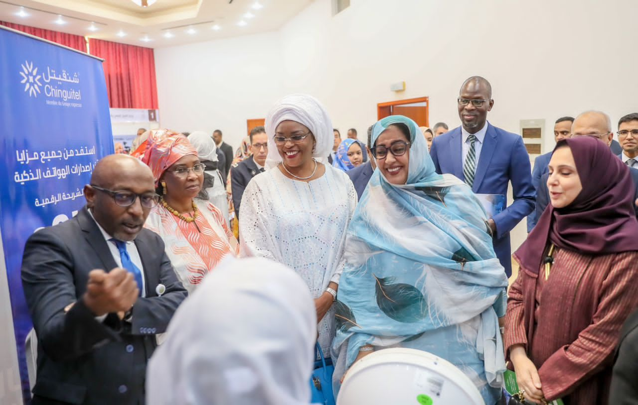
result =
[{"label": "blurred white headscarf of foreground person seen from behind", "polygon": [[316,314],[306,283],[263,258],[221,262],[149,362],[153,405],[308,405]]}]

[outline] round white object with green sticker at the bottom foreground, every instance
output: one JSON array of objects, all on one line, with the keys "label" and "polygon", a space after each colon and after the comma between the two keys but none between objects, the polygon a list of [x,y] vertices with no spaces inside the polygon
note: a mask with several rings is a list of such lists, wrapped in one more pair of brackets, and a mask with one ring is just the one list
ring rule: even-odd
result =
[{"label": "round white object with green sticker at the bottom foreground", "polygon": [[383,349],[348,371],[337,405],[485,405],[470,378],[422,350]]}]

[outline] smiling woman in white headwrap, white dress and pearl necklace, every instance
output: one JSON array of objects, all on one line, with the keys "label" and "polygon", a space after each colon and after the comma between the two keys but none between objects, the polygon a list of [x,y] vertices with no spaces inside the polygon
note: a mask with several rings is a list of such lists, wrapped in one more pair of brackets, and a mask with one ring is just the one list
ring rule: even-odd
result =
[{"label": "smiling woman in white headwrap, white dress and pearl necklace", "polygon": [[348,175],[318,159],[332,151],[332,122],[314,97],[293,94],[265,122],[266,166],[248,183],[239,210],[241,255],[292,267],[315,298],[319,343],[330,353],[346,228],[357,204]]}]

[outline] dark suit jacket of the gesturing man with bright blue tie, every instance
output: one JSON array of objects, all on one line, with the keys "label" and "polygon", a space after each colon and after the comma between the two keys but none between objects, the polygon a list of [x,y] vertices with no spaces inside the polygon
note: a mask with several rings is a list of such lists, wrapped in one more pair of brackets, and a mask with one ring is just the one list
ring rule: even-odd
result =
[{"label": "dark suit jacket of the gesturing man with bright blue tie", "polygon": [[[38,336],[32,405],[144,404],[155,334],[165,332],[186,290],[158,234],[143,229],[135,246],[144,267],[146,297],[135,302],[130,323],[115,314],[98,322],[82,301],[88,274],[117,265],[87,209],[27,240],[22,285]],[[155,292],[158,284],[166,287],[161,297]]]}]

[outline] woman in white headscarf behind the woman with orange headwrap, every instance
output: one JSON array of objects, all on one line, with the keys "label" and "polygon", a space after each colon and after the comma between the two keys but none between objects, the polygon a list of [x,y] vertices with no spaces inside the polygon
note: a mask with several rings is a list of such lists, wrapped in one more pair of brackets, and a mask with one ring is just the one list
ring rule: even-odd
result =
[{"label": "woman in white headscarf behind the woman with orange headwrap", "polygon": [[200,162],[206,165],[204,171],[204,190],[208,194],[208,201],[219,208],[221,214],[228,221],[228,196],[224,180],[218,170],[217,146],[211,136],[204,131],[191,132],[188,141],[193,145],[200,158]]}]

